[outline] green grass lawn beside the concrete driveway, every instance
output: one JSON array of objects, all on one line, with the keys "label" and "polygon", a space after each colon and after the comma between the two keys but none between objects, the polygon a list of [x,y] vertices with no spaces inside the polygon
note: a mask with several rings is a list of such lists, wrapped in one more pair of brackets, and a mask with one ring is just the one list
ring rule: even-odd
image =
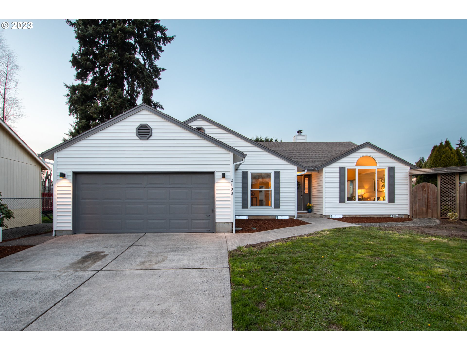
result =
[{"label": "green grass lawn beside the concrete driveway", "polygon": [[467,329],[459,238],[348,227],[239,248],[229,264],[234,329]]}]

